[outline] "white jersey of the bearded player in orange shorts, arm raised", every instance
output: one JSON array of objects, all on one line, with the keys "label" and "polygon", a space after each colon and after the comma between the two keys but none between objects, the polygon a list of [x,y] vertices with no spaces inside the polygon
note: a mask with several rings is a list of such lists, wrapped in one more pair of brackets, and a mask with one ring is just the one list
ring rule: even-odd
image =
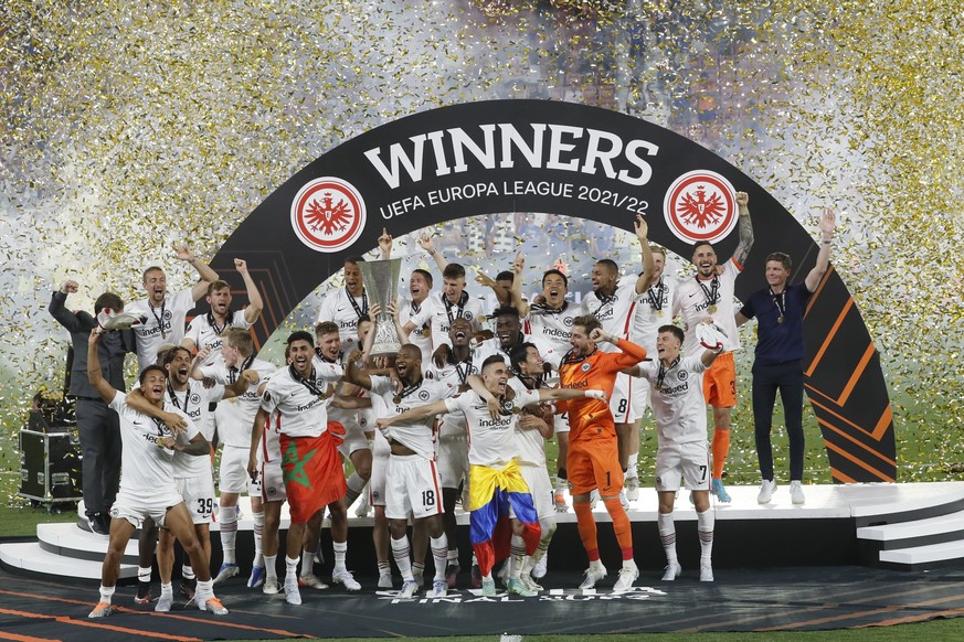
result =
[{"label": "white jersey of the bearded player in orange shorts, arm raised", "polygon": [[[740,350],[740,333],[737,332],[734,289],[740,270],[732,258],[723,265],[723,272],[714,279],[700,280],[696,276],[679,283],[676,301],[672,303],[672,315],[682,314],[686,321],[686,341],[684,350],[687,356],[702,354],[703,347],[696,339],[696,327],[707,317],[727,333],[723,349],[727,352]],[[716,285],[713,285],[716,282]],[[710,298],[716,290],[716,303]]]}]

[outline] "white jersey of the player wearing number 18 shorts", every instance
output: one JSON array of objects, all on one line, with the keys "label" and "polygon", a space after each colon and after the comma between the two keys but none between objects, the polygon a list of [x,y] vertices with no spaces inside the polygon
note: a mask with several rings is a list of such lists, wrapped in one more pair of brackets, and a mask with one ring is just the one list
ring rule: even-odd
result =
[{"label": "white jersey of the player wearing number 18 shorts", "polygon": [[[392,415],[401,415],[413,408],[427,406],[448,397],[452,386],[439,382],[423,378],[419,384],[395,388],[391,377],[372,375],[371,394],[380,396]],[[390,441],[398,441],[402,446],[415,451],[419,456],[428,460],[435,460],[435,417],[428,417],[419,421],[405,421],[391,426],[385,437]]]}]

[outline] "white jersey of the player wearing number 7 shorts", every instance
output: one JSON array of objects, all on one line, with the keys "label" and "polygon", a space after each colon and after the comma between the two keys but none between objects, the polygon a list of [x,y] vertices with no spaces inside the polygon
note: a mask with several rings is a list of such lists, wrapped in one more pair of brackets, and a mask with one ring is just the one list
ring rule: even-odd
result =
[{"label": "white jersey of the player wearing number 7 shorts", "polygon": [[707,366],[700,357],[681,357],[669,368],[659,361],[645,362],[639,364],[639,370],[650,384],[659,446],[706,441],[703,372]]}]

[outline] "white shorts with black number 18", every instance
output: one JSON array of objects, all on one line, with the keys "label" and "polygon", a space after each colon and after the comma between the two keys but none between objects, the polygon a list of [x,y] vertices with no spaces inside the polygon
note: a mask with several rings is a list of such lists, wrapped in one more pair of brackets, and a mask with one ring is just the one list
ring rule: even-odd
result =
[{"label": "white shorts with black number 18", "polygon": [[434,461],[420,454],[392,454],[385,479],[385,516],[415,520],[441,515],[442,480]]}]

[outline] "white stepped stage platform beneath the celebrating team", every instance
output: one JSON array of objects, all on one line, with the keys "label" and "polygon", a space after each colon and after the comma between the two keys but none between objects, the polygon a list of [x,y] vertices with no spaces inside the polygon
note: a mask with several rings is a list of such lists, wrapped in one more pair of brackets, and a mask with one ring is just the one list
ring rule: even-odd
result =
[{"label": "white stepped stage platform beneath the celebrating team", "polygon": [[[756,486],[733,485],[728,490],[731,503],[712,504],[717,518],[713,565],[718,569],[864,565],[919,570],[964,565],[964,482],[812,484],[804,488],[806,503],[799,506],[791,503],[786,485],[780,486],[766,505],[756,503]],[[636,561],[650,575],[658,574],[665,564],[656,529],[656,505],[655,490],[640,489],[639,499],[628,511]],[[356,516],[356,509],[349,511],[349,567],[360,578],[374,578],[373,520]],[[242,497],[241,510],[237,555],[244,566],[253,553],[253,523],[246,497]],[[456,512],[458,546],[463,568],[467,569],[472,555],[468,514],[460,509]],[[600,524],[603,560],[615,564],[619,557],[608,514],[600,504],[594,515]],[[674,516],[680,559],[685,567],[692,567],[699,543],[696,512],[686,492],[679,494]],[[570,509],[557,513],[557,520],[559,529],[550,547],[549,567],[581,571],[586,559],[575,515]],[[287,511],[283,510],[282,528],[287,525]],[[41,524],[35,541],[0,544],[0,564],[13,571],[95,580],[99,578],[107,537],[85,528],[84,520],[76,524]],[[211,529],[212,566],[216,569],[221,560],[219,524],[213,522]],[[282,543],[284,546],[284,537]],[[330,559],[327,529],[322,552]],[[428,559],[431,564],[431,556]],[[137,542],[131,541],[121,579],[136,575],[136,564]]]}]

